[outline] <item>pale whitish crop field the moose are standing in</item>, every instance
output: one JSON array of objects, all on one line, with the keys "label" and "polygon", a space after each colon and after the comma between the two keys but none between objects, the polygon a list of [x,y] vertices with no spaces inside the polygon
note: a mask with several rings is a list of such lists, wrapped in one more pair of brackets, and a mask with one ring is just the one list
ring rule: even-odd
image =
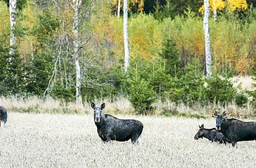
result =
[{"label": "pale whitish crop field the moose are standing in", "polygon": [[[90,115],[9,113],[1,128],[1,167],[255,167],[256,142],[196,141],[215,119],[117,116],[144,124],[142,145],[101,142]],[[248,120],[247,120],[248,121]]]}]

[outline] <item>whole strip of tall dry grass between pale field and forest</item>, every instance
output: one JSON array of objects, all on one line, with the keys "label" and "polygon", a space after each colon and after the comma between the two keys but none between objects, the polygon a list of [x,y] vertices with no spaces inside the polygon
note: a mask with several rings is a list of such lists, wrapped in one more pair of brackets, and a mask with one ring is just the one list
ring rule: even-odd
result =
[{"label": "whole strip of tall dry grass between pale field and forest", "polygon": [[[100,105],[106,103],[105,111],[109,114],[135,114],[135,110],[127,98],[117,98],[114,102],[109,99],[96,100],[95,104]],[[83,105],[76,105],[74,102],[64,102],[47,97],[42,100],[38,97],[0,97],[0,104],[8,107],[9,111],[20,113],[48,113],[48,114],[88,114],[92,110],[90,102],[84,101]],[[153,115],[166,115],[167,116],[186,116],[186,117],[207,117],[212,111],[227,111],[232,113],[233,117],[248,118],[256,117],[256,111],[252,108],[250,103],[246,106],[239,107],[236,103],[229,103],[225,106],[220,104],[208,104],[201,106],[199,103],[188,106],[184,103],[175,104],[169,100],[161,101],[158,99],[152,105],[154,111]]]}]

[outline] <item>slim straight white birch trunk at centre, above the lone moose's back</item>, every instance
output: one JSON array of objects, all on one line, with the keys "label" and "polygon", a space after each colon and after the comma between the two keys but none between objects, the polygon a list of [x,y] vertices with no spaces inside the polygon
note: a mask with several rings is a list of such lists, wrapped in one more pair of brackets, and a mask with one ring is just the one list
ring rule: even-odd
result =
[{"label": "slim straight white birch trunk at centre, above the lone moose's back", "polygon": [[128,2],[123,1],[124,72],[129,68]]}]

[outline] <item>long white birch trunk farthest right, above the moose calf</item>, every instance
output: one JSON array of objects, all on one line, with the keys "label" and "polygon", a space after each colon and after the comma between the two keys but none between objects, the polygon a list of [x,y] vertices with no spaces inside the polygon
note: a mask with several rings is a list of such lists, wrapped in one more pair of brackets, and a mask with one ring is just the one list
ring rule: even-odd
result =
[{"label": "long white birch trunk farthest right, above the moose calf", "polygon": [[204,0],[203,25],[204,25],[206,78],[210,78],[211,77],[211,53],[210,53],[210,34],[209,34],[209,0]]}]

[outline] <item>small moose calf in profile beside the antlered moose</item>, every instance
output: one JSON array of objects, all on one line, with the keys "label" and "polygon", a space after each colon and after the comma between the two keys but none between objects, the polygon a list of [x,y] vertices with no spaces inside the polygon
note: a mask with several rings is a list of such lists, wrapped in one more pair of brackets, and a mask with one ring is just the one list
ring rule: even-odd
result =
[{"label": "small moose calf in profile beside the antlered moose", "polygon": [[226,144],[224,135],[221,132],[217,131],[215,128],[206,129],[202,124],[201,126],[199,125],[199,130],[194,138],[198,140],[199,138],[203,137],[209,139],[209,141],[211,142],[219,142],[220,144]]}]

